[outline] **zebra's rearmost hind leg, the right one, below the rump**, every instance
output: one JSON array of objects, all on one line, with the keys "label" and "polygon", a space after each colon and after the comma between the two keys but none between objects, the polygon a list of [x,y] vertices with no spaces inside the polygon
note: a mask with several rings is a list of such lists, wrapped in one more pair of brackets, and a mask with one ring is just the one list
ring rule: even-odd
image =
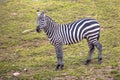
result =
[{"label": "zebra's rearmost hind leg, the right one, below the rump", "polygon": [[98,64],[101,64],[102,63],[102,45],[98,41],[94,43],[94,45],[98,50]]}]

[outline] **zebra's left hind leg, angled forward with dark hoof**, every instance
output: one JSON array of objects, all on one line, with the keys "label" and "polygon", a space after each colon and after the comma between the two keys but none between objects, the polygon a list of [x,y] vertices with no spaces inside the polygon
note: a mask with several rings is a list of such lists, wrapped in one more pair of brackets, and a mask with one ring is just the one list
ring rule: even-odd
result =
[{"label": "zebra's left hind leg, angled forward with dark hoof", "polygon": [[88,42],[88,46],[90,50],[89,50],[88,59],[86,60],[85,65],[88,65],[91,62],[92,54],[95,50],[94,44]]}]

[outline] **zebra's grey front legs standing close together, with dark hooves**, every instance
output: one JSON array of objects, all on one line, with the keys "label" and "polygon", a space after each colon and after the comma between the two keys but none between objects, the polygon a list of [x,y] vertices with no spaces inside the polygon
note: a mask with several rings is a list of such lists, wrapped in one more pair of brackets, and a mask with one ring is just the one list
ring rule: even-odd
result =
[{"label": "zebra's grey front legs standing close together, with dark hooves", "polygon": [[55,46],[55,49],[56,49],[56,57],[57,57],[56,70],[62,70],[63,66],[64,66],[62,46],[60,46],[60,45]]}]

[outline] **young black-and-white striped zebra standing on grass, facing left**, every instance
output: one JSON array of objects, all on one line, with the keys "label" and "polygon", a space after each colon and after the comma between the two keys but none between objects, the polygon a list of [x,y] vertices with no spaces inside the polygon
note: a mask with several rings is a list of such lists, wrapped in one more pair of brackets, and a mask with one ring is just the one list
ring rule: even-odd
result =
[{"label": "young black-and-white striped zebra standing on grass, facing left", "polygon": [[83,18],[69,24],[58,24],[44,12],[37,10],[37,27],[39,33],[43,29],[50,43],[55,47],[57,65],[56,70],[62,70],[64,66],[62,46],[70,45],[86,39],[89,46],[88,58],[85,65],[91,62],[91,57],[95,47],[98,50],[98,64],[102,62],[102,45],[99,42],[100,25],[97,20]]}]

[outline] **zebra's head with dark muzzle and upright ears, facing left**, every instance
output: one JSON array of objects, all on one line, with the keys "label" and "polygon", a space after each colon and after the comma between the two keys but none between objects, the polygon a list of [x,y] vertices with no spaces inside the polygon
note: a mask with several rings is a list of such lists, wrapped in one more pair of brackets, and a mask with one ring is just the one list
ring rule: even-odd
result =
[{"label": "zebra's head with dark muzzle and upright ears, facing left", "polygon": [[38,17],[37,17],[37,28],[36,28],[36,31],[37,32],[40,32],[47,24],[46,24],[46,19],[45,19],[45,14],[44,12],[43,13],[40,13],[39,10],[37,10],[37,14],[38,14]]}]

